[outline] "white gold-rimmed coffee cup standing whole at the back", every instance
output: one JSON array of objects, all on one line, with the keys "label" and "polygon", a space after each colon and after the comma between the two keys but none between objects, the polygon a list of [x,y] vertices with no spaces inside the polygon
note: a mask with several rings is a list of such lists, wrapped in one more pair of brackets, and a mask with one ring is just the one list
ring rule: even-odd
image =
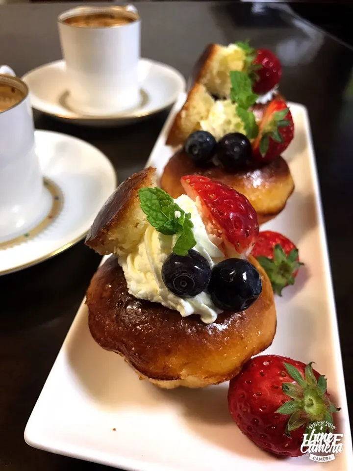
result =
[{"label": "white gold-rimmed coffee cup standing whole at the back", "polygon": [[[130,23],[85,27],[72,20],[97,14],[117,15]],[[139,104],[141,21],[132,5],[72,8],[59,15],[58,27],[72,108],[107,115]]]}]

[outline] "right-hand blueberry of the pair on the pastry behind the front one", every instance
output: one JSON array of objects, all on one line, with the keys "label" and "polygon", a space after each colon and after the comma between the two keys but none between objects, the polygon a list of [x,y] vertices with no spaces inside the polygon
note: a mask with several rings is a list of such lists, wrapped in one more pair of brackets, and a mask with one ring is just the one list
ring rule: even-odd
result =
[{"label": "right-hand blueberry of the pair on the pastry behind the front one", "polygon": [[249,139],[240,132],[226,134],[217,145],[218,160],[229,170],[236,170],[252,157]]}]

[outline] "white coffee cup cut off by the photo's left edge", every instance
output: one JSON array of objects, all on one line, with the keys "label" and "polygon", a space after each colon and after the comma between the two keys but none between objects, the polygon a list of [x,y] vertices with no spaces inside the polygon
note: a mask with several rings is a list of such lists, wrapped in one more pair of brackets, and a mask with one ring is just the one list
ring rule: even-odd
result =
[{"label": "white coffee cup cut off by the photo's left edge", "polygon": [[0,242],[24,234],[42,211],[43,178],[35,154],[28,87],[0,67]]}]

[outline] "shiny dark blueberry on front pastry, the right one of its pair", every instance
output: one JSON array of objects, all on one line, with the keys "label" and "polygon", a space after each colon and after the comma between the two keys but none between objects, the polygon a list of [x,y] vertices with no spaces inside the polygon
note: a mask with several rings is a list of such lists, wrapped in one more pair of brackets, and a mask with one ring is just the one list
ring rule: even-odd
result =
[{"label": "shiny dark blueberry on front pastry, the right one of its pair", "polygon": [[240,312],[256,301],[262,290],[259,272],[243,259],[227,259],[212,268],[208,292],[225,311]]}]

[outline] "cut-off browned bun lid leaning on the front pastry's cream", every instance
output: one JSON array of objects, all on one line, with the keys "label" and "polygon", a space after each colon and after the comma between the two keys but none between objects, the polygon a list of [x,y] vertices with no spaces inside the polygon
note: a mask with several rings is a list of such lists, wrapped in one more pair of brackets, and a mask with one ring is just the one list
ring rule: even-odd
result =
[{"label": "cut-off browned bun lid leaning on the front pastry's cream", "polygon": [[123,182],[94,220],[85,244],[101,255],[130,253],[148,224],[140,207],[139,188],[156,186],[155,168],[148,167]]}]

